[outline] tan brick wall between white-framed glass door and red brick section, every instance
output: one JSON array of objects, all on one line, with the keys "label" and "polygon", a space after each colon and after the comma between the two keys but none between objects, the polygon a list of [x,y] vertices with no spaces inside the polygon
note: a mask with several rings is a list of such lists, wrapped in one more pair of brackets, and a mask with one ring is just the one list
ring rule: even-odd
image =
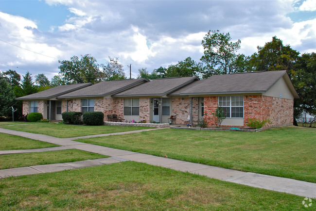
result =
[{"label": "tan brick wall between white-framed glass door and red brick section", "polygon": [[[176,124],[185,124],[188,115],[190,115],[191,97],[176,97],[171,99],[171,115],[176,116]],[[192,120],[193,125],[198,124],[198,97],[192,99]]]}]

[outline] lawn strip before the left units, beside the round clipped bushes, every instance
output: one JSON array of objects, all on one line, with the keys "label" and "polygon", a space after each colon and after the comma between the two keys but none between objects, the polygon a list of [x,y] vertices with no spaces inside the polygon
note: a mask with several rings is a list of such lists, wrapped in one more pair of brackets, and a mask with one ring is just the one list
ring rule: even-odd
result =
[{"label": "lawn strip before the left units, beside the round clipped bushes", "polygon": [[66,124],[39,124],[39,125],[18,125],[2,128],[10,130],[18,130],[23,132],[32,132],[37,134],[44,134],[58,138],[70,138],[86,135],[105,134],[112,132],[124,132],[131,130],[150,129],[148,127],[133,127],[133,126],[85,126],[85,125],[66,125]]}]

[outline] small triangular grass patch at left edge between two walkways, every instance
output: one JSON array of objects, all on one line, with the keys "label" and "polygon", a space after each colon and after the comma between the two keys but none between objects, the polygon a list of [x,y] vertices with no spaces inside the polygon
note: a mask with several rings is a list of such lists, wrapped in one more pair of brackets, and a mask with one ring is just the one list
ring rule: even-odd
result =
[{"label": "small triangular grass patch at left edge between two walkways", "polygon": [[0,150],[36,149],[53,146],[59,145],[53,145],[50,143],[28,139],[20,136],[0,133]]}]

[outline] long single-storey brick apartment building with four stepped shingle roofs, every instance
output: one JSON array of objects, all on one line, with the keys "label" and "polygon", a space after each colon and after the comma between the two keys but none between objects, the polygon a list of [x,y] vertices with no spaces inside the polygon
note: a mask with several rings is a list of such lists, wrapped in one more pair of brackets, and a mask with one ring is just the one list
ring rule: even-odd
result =
[{"label": "long single-storey brick apartment building with four stepped shingle roofs", "polygon": [[39,112],[62,120],[66,111],[100,111],[127,121],[197,124],[204,118],[215,127],[212,113],[223,107],[222,126],[245,128],[249,118],[269,119],[265,127],[293,125],[298,94],[285,70],[214,75],[205,80],[177,77],[132,79],[54,87],[23,100],[23,114]]}]

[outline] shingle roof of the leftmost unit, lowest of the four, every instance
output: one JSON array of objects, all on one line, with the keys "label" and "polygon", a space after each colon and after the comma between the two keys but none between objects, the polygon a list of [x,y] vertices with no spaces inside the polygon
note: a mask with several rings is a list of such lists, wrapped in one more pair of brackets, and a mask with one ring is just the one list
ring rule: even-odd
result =
[{"label": "shingle roof of the leftmost unit, lowest of the four", "polygon": [[69,93],[71,91],[76,91],[78,89],[82,89],[84,87],[90,86],[92,83],[78,83],[78,84],[70,84],[70,85],[61,85],[56,86],[51,89],[47,89],[41,92],[37,92],[32,95],[27,95],[23,97],[18,97],[16,99],[48,99],[51,97],[57,97],[59,95],[63,95]]}]

